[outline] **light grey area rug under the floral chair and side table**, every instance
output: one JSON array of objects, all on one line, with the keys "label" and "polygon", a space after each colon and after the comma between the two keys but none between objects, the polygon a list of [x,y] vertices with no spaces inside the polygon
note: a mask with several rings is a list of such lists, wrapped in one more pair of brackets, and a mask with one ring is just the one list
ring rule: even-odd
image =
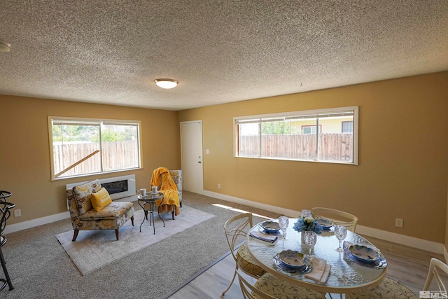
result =
[{"label": "light grey area rug under the floral chair and side table", "polygon": [[127,221],[120,228],[118,241],[115,230],[81,230],[75,242],[71,242],[73,230],[55,235],[55,237],[81,274],[85,275],[215,217],[214,214],[186,205],[183,205],[181,214],[176,216],[176,220],[172,220],[171,213],[164,213],[161,216],[165,220],[165,228],[155,213],[155,235],[153,226],[146,220],[141,225],[140,232],[139,227],[144,219],[144,212],[139,210],[134,214],[135,226],[132,226],[131,221]]}]

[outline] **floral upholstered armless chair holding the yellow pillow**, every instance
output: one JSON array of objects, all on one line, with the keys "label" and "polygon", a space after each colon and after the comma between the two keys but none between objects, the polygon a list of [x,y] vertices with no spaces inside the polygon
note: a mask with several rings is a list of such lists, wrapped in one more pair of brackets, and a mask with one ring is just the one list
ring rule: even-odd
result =
[{"label": "floral upholstered armless chair holding the yellow pillow", "polygon": [[76,240],[80,230],[115,230],[119,237],[119,228],[128,220],[134,225],[134,204],[132,202],[112,202],[99,211],[92,205],[92,194],[102,190],[99,180],[90,181],[73,189],[66,190],[73,239]]}]

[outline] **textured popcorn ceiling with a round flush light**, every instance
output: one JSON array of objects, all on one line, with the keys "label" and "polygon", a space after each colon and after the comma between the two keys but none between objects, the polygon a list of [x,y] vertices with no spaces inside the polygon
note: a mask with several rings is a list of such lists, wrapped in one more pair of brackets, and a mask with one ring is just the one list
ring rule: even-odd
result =
[{"label": "textured popcorn ceiling with a round flush light", "polygon": [[448,1],[1,0],[0,40],[0,94],[176,111],[447,71]]}]

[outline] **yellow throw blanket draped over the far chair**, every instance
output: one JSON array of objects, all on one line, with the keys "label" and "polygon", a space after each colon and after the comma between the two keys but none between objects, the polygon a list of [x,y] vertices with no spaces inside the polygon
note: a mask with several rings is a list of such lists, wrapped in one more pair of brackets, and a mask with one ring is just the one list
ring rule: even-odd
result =
[{"label": "yellow throw blanket draped over the far chair", "polygon": [[[162,177],[162,186],[160,186],[160,177]],[[159,213],[165,211],[173,211],[174,215],[179,215],[179,193],[177,193],[177,186],[174,183],[169,170],[165,167],[154,169],[153,176],[151,176],[151,186],[160,186],[160,192],[163,193],[162,200],[156,200]]]}]

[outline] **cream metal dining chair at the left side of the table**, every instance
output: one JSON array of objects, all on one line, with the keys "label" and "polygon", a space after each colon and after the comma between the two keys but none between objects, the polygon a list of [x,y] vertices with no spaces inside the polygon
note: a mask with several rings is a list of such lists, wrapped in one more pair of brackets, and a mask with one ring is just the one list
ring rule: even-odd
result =
[{"label": "cream metal dining chair at the left side of the table", "polygon": [[232,286],[239,269],[255,279],[265,274],[265,270],[253,260],[246,246],[246,237],[248,231],[252,228],[252,223],[251,213],[233,216],[224,223],[225,237],[230,248],[230,253],[232,253],[233,259],[235,260],[235,272],[228,288],[223,291],[223,295]]}]

